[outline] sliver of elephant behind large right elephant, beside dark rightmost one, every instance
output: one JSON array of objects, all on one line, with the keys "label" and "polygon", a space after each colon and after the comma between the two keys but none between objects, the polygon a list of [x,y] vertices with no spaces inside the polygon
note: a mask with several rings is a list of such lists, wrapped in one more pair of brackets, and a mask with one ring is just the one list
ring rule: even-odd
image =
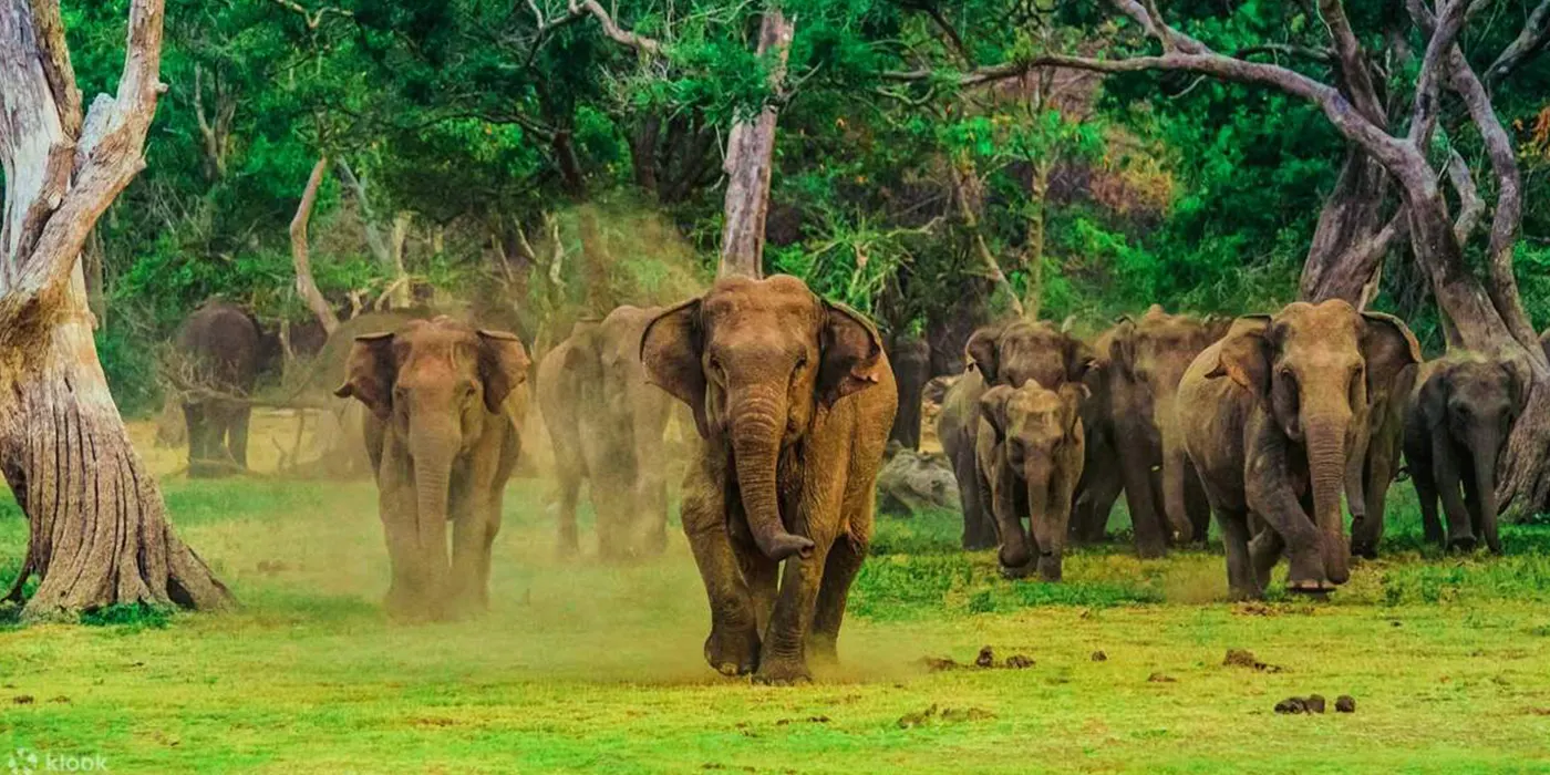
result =
[{"label": "sliver of elephant behind large right elephant, beside dark rightmost one", "polygon": [[[1384,512],[1389,502],[1389,485],[1400,474],[1400,453],[1404,446],[1404,414],[1415,389],[1415,374],[1420,364],[1410,363],[1406,353],[1420,352],[1415,335],[1398,318],[1369,312],[1372,319],[1384,319],[1401,332],[1403,339],[1387,338],[1380,344],[1392,347],[1392,353],[1376,353],[1367,364],[1367,442],[1366,459],[1361,463],[1361,493],[1347,498],[1362,498],[1362,508],[1352,508],[1352,553],[1376,560],[1383,541]],[[1401,352],[1403,350],[1403,352]]]}]

